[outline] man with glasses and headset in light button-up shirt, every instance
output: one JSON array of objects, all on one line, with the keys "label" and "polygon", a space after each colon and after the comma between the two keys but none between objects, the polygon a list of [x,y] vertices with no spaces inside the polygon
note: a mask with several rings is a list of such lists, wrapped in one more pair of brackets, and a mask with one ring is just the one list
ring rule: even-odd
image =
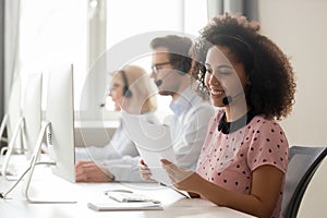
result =
[{"label": "man with glasses and headset in light button-up shirt", "polygon": [[[214,108],[191,87],[191,46],[190,38],[177,35],[157,37],[150,41],[152,76],[159,95],[171,96],[172,99],[170,109],[173,117],[167,119],[166,124],[170,126],[177,165],[195,170]],[[141,160],[140,164],[150,174],[146,162]],[[143,179],[152,180],[147,175]]]}]

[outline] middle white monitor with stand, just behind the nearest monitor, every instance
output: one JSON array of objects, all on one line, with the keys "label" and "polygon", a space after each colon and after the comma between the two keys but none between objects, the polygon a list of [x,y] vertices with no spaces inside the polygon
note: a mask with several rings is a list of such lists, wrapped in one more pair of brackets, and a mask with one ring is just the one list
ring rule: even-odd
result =
[{"label": "middle white monitor with stand, just behind the nearest monitor", "polygon": [[[9,164],[11,155],[17,148],[16,143],[23,143],[20,146],[20,153],[25,153],[27,159],[31,158],[34,150],[34,146],[37,141],[37,135],[41,125],[41,73],[26,74],[20,77],[19,82],[15,82],[12,90],[11,97],[17,98],[20,96],[20,101],[15,106],[20,109],[20,119],[16,121],[12,136],[9,140],[9,145],[7,147],[7,154],[2,162],[1,172],[5,180],[11,180],[12,178],[7,177],[12,174],[10,172]],[[20,85],[20,87],[16,87]],[[20,94],[16,93],[20,89]],[[11,99],[13,104],[15,99]],[[10,105],[13,108],[12,105]],[[21,136],[23,142],[21,142]],[[13,173],[14,174],[14,173]]]}]

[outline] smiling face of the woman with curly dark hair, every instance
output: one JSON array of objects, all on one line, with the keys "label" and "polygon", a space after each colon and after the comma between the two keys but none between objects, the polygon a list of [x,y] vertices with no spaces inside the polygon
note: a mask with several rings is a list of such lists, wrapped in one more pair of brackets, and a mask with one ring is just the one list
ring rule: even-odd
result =
[{"label": "smiling face of the woman with curly dark hair", "polygon": [[232,97],[233,104],[241,98],[244,99],[243,89],[247,82],[247,75],[244,65],[235,60],[228,47],[211,47],[207,52],[206,69],[205,85],[214,106],[229,107],[222,102],[227,96]]}]

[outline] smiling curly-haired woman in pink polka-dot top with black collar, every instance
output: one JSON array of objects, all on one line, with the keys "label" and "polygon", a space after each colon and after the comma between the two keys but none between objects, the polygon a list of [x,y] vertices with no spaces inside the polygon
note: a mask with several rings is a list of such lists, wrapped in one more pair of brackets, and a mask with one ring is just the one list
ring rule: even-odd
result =
[{"label": "smiling curly-haired woman in pink polka-dot top with black collar", "polygon": [[[209,122],[196,171],[162,159],[175,187],[255,217],[279,218],[289,144],[278,120],[294,102],[288,57],[257,23],[226,13],[214,17],[193,47],[198,75],[219,110]],[[146,173],[146,172],[145,172]]]}]

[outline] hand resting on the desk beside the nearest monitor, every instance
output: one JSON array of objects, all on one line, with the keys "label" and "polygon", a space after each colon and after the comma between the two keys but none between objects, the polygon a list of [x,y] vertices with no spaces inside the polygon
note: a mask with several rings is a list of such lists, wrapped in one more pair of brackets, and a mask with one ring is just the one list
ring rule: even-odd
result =
[{"label": "hand resting on the desk beside the nearest monitor", "polygon": [[94,161],[78,161],[75,165],[76,182],[112,182],[113,177]]}]

